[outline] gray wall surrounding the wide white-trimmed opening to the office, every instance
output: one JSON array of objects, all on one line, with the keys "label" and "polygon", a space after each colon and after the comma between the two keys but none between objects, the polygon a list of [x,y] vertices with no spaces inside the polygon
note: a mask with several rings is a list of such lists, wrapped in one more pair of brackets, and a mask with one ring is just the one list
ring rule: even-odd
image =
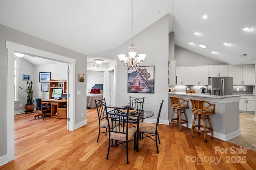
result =
[{"label": "gray wall surrounding the wide white-trimmed opening to the office", "polygon": [[81,91],[82,95],[74,97],[75,100],[75,123],[86,120],[86,116],[82,117],[81,113],[86,113],[86,82],[78,82],[78,73],[86,74],[86,55],[66,49],[59,45],[44,41],[32,35],[22,33],[10,27],[0,25],[0,156],[7,154],[7,127],[8,127],[8,111],[7,111],[7,49],[5,49],[6,41],[18,43],[35,49],[40,49],[50,53],[66,56],[76,59],[75,68],[75,91]]}]

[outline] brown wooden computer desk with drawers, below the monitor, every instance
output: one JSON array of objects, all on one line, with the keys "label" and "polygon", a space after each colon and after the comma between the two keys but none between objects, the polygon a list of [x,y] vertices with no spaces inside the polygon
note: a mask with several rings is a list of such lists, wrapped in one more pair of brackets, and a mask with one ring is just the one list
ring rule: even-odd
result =
[{"label": "brown wooden computer desk with drawers, below the monitor", "polygon": [[51,117],[66,119],[67,118],[67,100],[43,99],[43,102],[51,103]]}]

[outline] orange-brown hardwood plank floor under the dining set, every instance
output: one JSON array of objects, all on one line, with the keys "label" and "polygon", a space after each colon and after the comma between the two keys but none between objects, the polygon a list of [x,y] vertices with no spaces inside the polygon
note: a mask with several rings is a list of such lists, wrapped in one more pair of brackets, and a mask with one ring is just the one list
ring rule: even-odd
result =
[{"label": "orange-brown hardwood plank floor under the dining set", "polygon": [[[35,114],[15,115],[15,160],[1,166],[1,170],[256,169],[256,152],[216,138],[212,140],[210,136],[204,143],[203,134],[194,133],[192,138],[191,129],[182,127],[180,132],[175,125],[173,128],[159,125],[159,153],[154,141],[145,138],[139,141],[139,152],[132,143],[129,146],[129,164],[122,146],[110,148],[106,160],[108,135],[101,134],[99,143],[96,142],[96,109],[88,109],[88,124],[74,131],[66,130],[64,119],[34,120]],[[225,149],[226,153],[220,152]],[[234,149],[240,153],[232,153]]]}]

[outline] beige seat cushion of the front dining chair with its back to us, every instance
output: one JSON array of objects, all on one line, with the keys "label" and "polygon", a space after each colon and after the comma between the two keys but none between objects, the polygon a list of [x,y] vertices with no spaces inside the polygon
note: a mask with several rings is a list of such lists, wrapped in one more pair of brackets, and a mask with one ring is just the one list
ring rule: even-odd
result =
[{"label": "beige seat cushion of the front dining chair with its back to us", "polygon": [[[126,133],[126,127],[115,127],[114,131],[121,131]],[[117,140],[117,141],[126,141],[126,134],[124,133],[116,133],[110,132],[110,139]],[[136,133],[136,129],[128,127],[128,141],[132,139],[132,136]]]}]

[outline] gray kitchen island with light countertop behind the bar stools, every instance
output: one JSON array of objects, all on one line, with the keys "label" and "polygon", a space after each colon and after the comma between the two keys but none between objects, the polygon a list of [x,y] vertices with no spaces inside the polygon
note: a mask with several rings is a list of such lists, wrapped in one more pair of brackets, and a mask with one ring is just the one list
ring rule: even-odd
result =
[{"label": "gray kitchen island with light countertop behind the bar stools", "polygon": [[[215,96],[210,94],[200,93],[182,93],[182,92],[169,92],[169,96],[176,96],[183,98],[184,100],[198,99],[206,100],[211,104],[215,104],[215,115],[210,115],[214,137],[223,141],[228,141],[238,135],[241,135],[239,127],[239,101],[240,95],[227,95],[227,96]],[[169,122],[172,115],[172,106],[169,98]],[[186,115],[188,118],[188,127],[191,130],[194,120],[194,113],[191,110],[191,102],[188,102],[189,108],[186,109]],[[176,115],[175,115],[176,116]],[[196,122],[197,123],[197,122]],[[207,122],[208,123],[208,122]],[[209,126],[206,123],[207,126]],[[211,135],[208,133],[208,135]]]}]

